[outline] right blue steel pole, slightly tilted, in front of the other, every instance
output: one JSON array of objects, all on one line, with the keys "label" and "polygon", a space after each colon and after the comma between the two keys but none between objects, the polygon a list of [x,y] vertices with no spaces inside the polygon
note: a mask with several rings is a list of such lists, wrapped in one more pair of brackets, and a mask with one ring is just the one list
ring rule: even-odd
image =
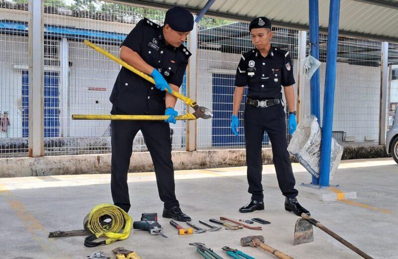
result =
[{"label": "right blue steel pole, slightly tilted, in front of the other", "polygon": [[319,185],[329,186],[330,153],[332,146],[334,85],[336,81],[337,43],[339,34],[340,0],[330,0],[327,39],[325,94],[323,98],[322,142]]}]

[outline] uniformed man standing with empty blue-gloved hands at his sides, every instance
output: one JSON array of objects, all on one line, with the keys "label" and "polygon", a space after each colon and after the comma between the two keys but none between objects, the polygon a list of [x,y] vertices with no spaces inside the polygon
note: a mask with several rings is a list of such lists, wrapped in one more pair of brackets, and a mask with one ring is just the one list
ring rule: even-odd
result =
[{"label": "uniformed man standing with empty blue-gloved hands at his sides", "polygon": [[282,104],[282,87],[289,107],[289,133],[296,130],[293,64],[289,52],[272,46],[271,21],[266,17],[254,19],[250,25],[255,48],[242,55],[236,70],[236,87],[233,99],[231,130],[238,135],[238,112],[244,86],[248,86],[244,111],[246,141],[247,180],[251,200],[240,212],[264,210],[264,194],[261,184],[263,161],[261,156],[264,131],[272,144],[273,161],[279,187],[286,197],[285,209],[296,215],[309,212],[301,207],[296,196],[295,177],[287,151],[286,114]]}]

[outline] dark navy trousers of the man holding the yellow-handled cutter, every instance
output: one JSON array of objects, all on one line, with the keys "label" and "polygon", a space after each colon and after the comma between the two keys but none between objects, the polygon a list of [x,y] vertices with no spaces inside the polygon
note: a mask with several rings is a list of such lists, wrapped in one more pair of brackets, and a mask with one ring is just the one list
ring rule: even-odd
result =
[{"label": "dark navy trousers of the man holding the yellow-handled cutter", "polygon": [[[112,114],[123,113],[119,111],[112,112]],[[167,209],[179,206],[175,194],[169,123],[112,120],[110,125],[112,147],[110,188],[113,203],[126,212],[130,209],[127,172],[130,166],[133,140],[137,132],[141,130],[155,168],[160,199]],[[140,195],[145,196],[146,194]]]}]

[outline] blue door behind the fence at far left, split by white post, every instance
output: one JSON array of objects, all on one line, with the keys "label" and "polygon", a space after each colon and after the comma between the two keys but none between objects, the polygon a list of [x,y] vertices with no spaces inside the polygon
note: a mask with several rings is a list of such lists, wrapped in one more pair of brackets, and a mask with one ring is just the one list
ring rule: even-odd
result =
[{"label": "blue door behind the fence at far left, split by white post", "polygon": [[[44,72],[44,137],[59,137],[59,75]],[[28,72],[22,72],[22,137],[29,136]]]}]

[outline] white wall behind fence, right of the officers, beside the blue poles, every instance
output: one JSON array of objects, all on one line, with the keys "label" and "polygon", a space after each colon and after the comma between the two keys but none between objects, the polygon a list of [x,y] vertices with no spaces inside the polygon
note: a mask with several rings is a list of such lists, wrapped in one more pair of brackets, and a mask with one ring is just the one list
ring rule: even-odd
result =
[{"label": "white wall behind fence, right of the officers, beside the blue poles", "polygon": [[[323,112],[325,63],[320,66],[320,111]],[[305,84],[306,115],[310,114],[309,82]],[[365,142],[365,136],[379,139],[380,67],[337,63],[333,109],[333,131],[344,131]],[[321,115],[322,117],[322,115]]]}]

